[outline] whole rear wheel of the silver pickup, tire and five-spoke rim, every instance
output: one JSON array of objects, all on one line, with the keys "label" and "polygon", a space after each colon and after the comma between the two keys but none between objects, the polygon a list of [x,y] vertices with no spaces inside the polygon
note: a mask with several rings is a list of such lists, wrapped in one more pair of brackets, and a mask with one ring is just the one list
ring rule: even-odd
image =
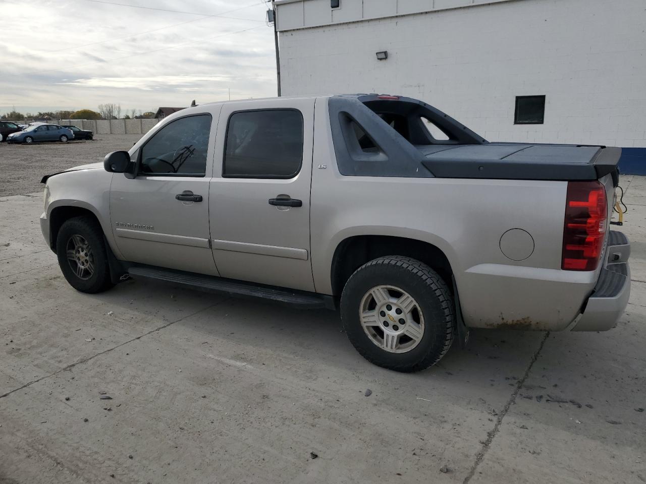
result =
[{"label": "whole rear wheel of the silver pickup, tire and five-spoke rim", "polygon": [[371,363],[400,372],[435,365],[453,342],[453,298],[428,265],[402,256],[374,259],[341,295],[348,338]]}]

